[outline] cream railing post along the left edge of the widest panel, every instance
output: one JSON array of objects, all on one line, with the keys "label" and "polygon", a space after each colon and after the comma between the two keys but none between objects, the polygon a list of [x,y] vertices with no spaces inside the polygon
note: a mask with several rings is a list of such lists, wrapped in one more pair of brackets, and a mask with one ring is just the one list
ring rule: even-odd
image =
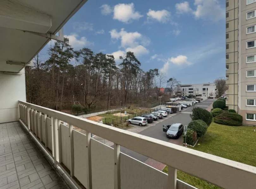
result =
[{"label": "cream railing post along the left edge of the widest panel", "polygon": [[120,178],[120,145],[114,143],[114,166],[115,166],[115,189],[121,188],[121,178]]}]

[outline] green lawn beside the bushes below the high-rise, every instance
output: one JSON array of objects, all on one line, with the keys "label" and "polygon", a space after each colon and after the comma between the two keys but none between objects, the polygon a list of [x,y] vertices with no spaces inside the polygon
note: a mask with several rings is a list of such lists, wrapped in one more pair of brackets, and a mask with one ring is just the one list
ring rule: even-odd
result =
[{"label": "green lawn beside the bushes below the high-rise", "polygon": [[[255,137],[256,133],[250,126],[233,127],[211,123],[206,134],[199,139],[200,145],[192,149],[256,167]],[[168,167],[163,171],[168,173]],[[177,171],[177,178],[199,189],[219,188],[182,171]]]}]

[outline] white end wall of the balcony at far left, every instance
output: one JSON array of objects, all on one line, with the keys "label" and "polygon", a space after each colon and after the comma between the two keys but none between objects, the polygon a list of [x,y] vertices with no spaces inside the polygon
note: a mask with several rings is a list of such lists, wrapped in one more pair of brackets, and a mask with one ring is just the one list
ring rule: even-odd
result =
[{"label": "white end wall of the balcony at far left", "polygon": [[21,75],[0,72],[0,123],[18,121],[18,100],[26,101],[25,69]]}]

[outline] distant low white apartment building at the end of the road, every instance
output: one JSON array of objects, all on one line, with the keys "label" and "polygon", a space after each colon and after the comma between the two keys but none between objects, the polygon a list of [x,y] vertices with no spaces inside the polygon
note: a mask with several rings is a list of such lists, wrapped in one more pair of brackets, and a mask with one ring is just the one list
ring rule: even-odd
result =
[{"label": "distant low white apartment building at the end of the road", "polygon": [[182,96],[215,97],[217,94],[214,83],[182,84],[179,90]]}]

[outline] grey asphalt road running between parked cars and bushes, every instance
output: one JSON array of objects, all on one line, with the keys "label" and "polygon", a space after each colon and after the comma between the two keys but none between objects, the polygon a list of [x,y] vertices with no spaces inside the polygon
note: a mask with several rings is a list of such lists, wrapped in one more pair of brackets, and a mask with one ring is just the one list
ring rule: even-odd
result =
[{"label": "grey asphalt road running between parked cars and bushes", "polygon": [[[169,117],[168,119],[165,119],[161,123],[157,123],[156,125],[141,131],[139,134],[149,136],[149,137],[152,137],[155,139],[163,140],[163,141],[169,141],[170,139],[166,137],[166,134],[162,130],[163,125],[171,125],[173,123],[182,123],[183,125],[186,125],[191,121],[190,112],[192,112],[192,108],[200,107],[200,108],[206,109],[214,101],[215,101],[215,99],[207,99],[204,102],[200,102],[194,106],[190,106],[190,107],[186,108],[185,111],[177,113],[176,115]],[[180,137],[182,137],[182,136],[180,136]],[[171,140],[177,140],[177,139],[171,139]],[[170,140],[170,142],[172,142],[171,140]],[[178,140],[181,140],[181,139],[178,139]],[[175,143],[175,141],[174,141],[174,143]],[[141,162],[145,162],[148,159],[148,157],[143,156],[137,152],[134,152],[134,151],[129,150],[122,146],[121,146],[120,150],[121,150],[121,152],[123,152]]]}]

